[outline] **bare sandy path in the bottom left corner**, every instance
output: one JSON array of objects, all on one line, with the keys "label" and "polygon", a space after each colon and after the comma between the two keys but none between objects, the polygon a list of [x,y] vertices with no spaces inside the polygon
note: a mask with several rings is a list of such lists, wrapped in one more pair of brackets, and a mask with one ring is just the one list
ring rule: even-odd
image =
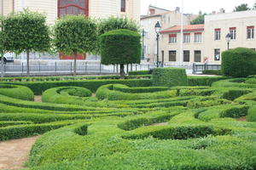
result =
[{"label": "bare sandy path in the bottom left corner", "polygon": [[24,168],[32,144],[38,137],[0,142],[0,169]]}]

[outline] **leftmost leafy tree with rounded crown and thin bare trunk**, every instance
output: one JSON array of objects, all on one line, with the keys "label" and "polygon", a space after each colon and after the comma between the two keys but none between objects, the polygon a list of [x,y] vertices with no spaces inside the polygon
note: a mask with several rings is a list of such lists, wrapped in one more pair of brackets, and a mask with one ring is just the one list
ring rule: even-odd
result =
[{"label": "leftmost leafy tree with rounded crown and thin bare trunk", "polygon": [[3,20],[4,48],[17,54],[26,53],[27,76],[29,71],[29,55],[34,52],[47,52],[50,48],[49,26],[46,16],[37,12],[24,10],[9,14]]}]

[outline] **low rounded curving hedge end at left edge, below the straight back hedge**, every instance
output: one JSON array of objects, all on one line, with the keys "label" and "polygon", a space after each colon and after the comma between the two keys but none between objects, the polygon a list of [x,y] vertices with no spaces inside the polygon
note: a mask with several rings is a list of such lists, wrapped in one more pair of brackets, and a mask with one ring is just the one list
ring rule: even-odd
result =
[{"label": "low rounded curving hedge end at left edge, below the straight back hedge", "polygon": [[15,99],[34,100],[32,90],[24,86],[0,84],[0,94]]}]

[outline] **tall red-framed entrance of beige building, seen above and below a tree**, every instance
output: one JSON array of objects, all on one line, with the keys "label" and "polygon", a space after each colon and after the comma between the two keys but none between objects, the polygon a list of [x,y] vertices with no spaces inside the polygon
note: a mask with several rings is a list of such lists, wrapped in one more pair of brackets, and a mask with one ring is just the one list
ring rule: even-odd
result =
[{"label": "tall red-framed entrance of beige building, seen above and below a tree", "polygon": [[[58,17],[65,14],[84,14],[89,16],[89,0],[58,0]],[[73,59],[73,56],[59,55],[60,59]],[[78,59],[86,59],[86,54],[79,54]]]}]

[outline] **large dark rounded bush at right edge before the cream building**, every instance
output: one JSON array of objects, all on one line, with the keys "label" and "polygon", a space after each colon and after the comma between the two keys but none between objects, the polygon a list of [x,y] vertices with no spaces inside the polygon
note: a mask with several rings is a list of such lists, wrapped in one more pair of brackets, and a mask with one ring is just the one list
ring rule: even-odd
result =
[{"label": "large dark rounded bush at right edge before the cream building", "polygon": [[256,74],[256,52],[249,48],[235,48],[222,53],[222,72],[230,77]]}]

